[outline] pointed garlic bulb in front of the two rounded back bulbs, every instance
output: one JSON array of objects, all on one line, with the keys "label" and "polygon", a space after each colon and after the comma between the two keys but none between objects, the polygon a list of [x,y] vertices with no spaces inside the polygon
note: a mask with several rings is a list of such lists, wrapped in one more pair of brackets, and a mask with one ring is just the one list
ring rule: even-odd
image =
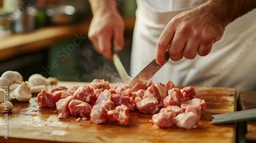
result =
[{"label": "pointed garlic bulb in front of the two rounded back bulbs", "polygon": [[32,97],[31,89],[28,82],[26,81],[20,84],[14,90],[10,90],[9,96],[10,98],[13,98],[13,99],[15,98],[18,101],[22,101],[22,102],[28,101]]}]

